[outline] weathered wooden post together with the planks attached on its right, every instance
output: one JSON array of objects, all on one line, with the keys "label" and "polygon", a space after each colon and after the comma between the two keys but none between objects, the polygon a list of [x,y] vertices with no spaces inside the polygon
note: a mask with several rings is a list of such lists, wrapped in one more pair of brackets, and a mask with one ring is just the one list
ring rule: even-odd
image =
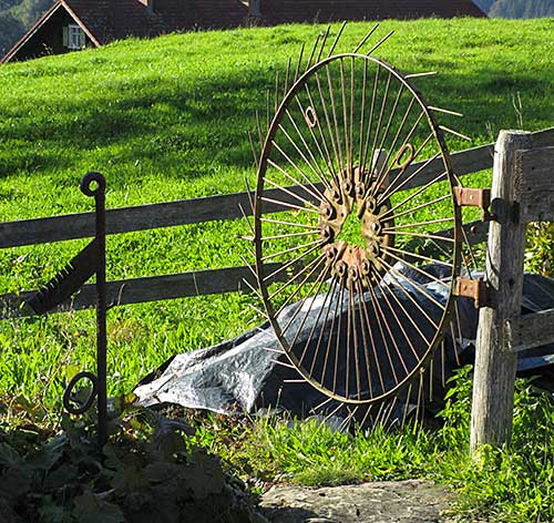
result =
[{"label": "weathered wooden post together with the planks attached on its right", "polygon": [[554,341],[554,309],[521,315],[525,227],[554,221],[554,140],[502,131],[494,154],[485,281],[479,315],[471,449],[509,443],[517,351]]}]

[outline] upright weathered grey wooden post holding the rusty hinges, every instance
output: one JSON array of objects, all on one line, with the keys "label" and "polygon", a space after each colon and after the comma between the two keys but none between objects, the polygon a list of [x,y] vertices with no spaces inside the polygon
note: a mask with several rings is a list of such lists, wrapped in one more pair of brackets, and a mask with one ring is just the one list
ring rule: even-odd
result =
[{"label": "upright weathered grey wooden post holding the rusty hinges", "polygon": [[501,131],[494,150],[486,281],[493,307],[479,315],[471,412],[471,451],[482,444],[510,443],[517,356],[509,350],[504,324],[521,314],[525,224],[519,221],[515,153],[531,148],[530,133]]}]

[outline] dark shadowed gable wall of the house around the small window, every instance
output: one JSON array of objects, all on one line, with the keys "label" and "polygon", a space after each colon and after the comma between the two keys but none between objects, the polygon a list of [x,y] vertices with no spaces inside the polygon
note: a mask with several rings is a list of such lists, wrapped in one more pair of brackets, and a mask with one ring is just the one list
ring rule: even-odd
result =
[{"label": "dark shadowed gable wall of the house around the small window", "polygon": [[[11,61],[29,60],[48,54],[62,54],[70,50],[63,47],[63,27],[75,23],[63,9],[55,11],[47,23],[42,24],[37,32],[19,49]],[[92,42],[86,38],[86,45]]]}]

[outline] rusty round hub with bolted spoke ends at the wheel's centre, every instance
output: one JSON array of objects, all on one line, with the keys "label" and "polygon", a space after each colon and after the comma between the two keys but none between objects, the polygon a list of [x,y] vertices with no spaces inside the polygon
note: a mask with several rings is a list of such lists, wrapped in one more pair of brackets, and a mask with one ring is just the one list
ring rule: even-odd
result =
[{"label": "rusty round hub with bolted spoke ends at the wheel's centre", "polygon": [[[387,271],[381,258],[383,247],[392,247],[394,237],[387,230],[394,226],[394,219],[387,216],[390,201],[380,201],[386,184],[379,186],[377,174],[355,167],[342,170],[324,193],[320,204],[319,229],[325,242],[324,253],[327,264],[336,278],[346,278],[351,285],[358,280],[363,288],[378,280]],[[340,234],[349,216],[355,215],[360,223],[361,242],[353,244],[340,239]]]}]

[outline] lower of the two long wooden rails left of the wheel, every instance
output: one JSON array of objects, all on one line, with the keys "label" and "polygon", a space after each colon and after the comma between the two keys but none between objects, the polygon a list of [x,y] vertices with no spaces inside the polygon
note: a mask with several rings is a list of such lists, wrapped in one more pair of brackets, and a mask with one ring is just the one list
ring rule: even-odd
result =
[{"label": "lower of the two long wooden rails left of the wheel", "polygon": [[[268,264],[267,270],[269,273],[277,270],[280,265]],[[283,271],[275,279],[287,277],[286,271]],[[109,307],[116,307],[164,299],[250,291],[248,285],[244,283],[245,279],[254,288],[257,287],[256,278],[247,266],[113,280],[106,283],[107,304]],[[24,290],[18,295],[10,293],[0,296],[0,319],[33,316],[34,312],[24,302],[34,293],[34,290]],[[86,284],[75,296],[52,312],[88,309],[94,307],[95,304],[95,285]]]}]

